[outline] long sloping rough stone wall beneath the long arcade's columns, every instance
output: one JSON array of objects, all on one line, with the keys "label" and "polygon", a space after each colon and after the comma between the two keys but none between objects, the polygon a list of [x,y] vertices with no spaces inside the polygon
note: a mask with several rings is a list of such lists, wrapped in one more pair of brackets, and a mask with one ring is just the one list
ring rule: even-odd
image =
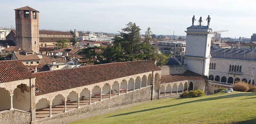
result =
[{"label": "long sloping rough stone wall beneath the long arcade's columns", "polygon": [[[68,111],[67,113],[63,113],[60,115],[53,116],[51,118],[36,122],[37,124],[48,124],[48,123],[61,123],[61,120],[65,120],[68,116],[101,111],[108,108],[113,108],[117,106],[129,105],[138,102],[144,102],[151,100],[151,89],[152,86],[148,86],[142,89],[137,89],[135,91],[130,91],[125,94],[121,94],[120,96],[114,96],[109,99],[103,99],[100,102],[92,103],[92,105],[84,106],[79,109],[75,109],[73,111]],[[153,90],[153,99],[157,99],[157,92]],[[70,119],[68,120],[70,121]]]}]

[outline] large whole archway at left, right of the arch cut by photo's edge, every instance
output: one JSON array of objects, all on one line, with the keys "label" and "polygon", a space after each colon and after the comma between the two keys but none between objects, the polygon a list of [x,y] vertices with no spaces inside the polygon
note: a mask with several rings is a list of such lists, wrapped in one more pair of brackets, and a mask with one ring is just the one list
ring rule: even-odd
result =
[{"label": "large whole archway at left, right of the arch cut by photo's edge", "polygon": [[13,108],[29,112],[30,92],[27,84],[20,84],[13,90],[12,104]]}]

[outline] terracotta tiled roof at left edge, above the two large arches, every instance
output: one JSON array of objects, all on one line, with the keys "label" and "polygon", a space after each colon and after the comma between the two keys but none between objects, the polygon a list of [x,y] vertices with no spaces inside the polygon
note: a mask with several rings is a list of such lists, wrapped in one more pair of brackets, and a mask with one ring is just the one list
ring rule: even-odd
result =
[{"label": "terracotta tiled roof at left edge, above the two large arches", "polygon": [[20,60],[0,61],[0,83],[34,78]]}]

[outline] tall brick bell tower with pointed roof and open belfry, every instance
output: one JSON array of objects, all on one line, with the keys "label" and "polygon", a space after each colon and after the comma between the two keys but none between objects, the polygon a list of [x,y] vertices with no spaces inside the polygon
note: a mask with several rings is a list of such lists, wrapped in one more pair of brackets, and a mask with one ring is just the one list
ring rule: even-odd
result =
[{"label": "tall brick bell tower with pointed roof and open belfry", "polygon": [[39,53],[39,11],[25,6],[15,9],[16,46]]}]

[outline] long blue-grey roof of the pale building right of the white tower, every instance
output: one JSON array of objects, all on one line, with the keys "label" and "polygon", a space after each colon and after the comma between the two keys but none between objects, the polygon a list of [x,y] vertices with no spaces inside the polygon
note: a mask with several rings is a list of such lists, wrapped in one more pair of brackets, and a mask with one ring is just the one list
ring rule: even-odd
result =
[{"label": "long blue-grey roof of the pale building right of the white tower", "polygon": [[212,58],[225,58],[225,59],[256,61],[256,51],[254,51],[254,50],[211,48],[210,54],[211,54]]}]

